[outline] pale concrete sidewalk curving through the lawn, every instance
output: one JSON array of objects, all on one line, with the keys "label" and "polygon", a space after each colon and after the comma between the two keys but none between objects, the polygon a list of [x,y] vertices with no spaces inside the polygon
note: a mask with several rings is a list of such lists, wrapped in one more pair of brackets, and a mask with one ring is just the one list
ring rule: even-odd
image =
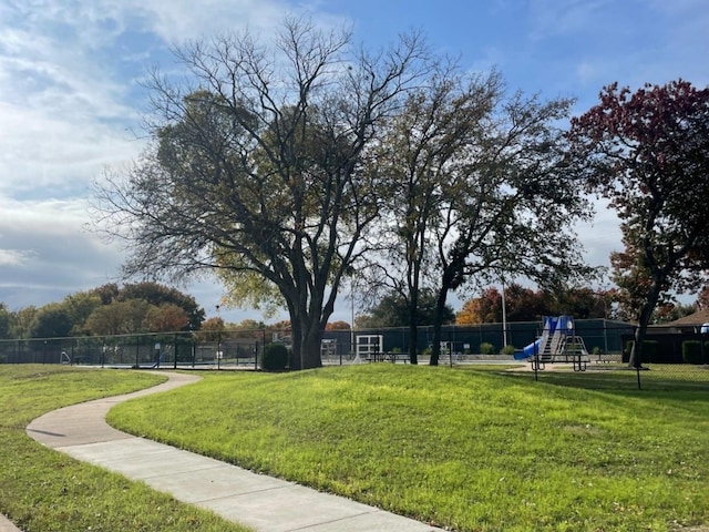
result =
[{"label": "pale concrete sidewalk curving through the lawn", "polygon": [[[129,479],[141,480],[175,499],[212,510],[261,532],[430,532],[442,529],[378,508],[321,493],[117,431],[105,422],[114,405],[197,381],[165,372],[163,385],[49,412],[27,432],[39,442]],[[0,516],[0,532],[2,529]],[[14,529],[17,530],[17,529]],[[13,529],[8,529],[13,531]]]}]

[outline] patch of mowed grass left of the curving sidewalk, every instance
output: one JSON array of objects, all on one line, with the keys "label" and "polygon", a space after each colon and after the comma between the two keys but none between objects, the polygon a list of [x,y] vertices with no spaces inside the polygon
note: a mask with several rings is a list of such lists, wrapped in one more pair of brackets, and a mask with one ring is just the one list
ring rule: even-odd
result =
[{"label": "patch of mowed grass left of the curving sidewalk", "polygon": [[0,512],[25,532],[246,531],[48,449],[24,431],[50,410],[164,380],[137,371],[0,365]]}]

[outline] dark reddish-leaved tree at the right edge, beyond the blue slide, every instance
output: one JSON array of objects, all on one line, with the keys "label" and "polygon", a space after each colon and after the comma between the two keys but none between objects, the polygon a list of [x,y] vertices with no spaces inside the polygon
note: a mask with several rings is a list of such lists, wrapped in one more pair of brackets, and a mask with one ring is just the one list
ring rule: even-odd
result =
[{"label": "dark reddish-leaved tree at the right edge, beyond the blue slide", "polygon": [[615,278],[636,309],[629,364],[639,367],[655,307],[700,288],[709,269],[709,89],[612,84],[572,121],[569,139],[588,190],[620,219]]}]

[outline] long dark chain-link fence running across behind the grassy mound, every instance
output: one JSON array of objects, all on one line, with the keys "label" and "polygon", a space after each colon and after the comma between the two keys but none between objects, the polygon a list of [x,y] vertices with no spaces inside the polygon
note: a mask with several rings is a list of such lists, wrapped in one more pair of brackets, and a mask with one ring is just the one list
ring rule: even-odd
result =
[{"label": "long dark chain-link fence running across behind the grassy mound", "polygon": [[[439,365],[495,366],[516,376],[594,389],[687,389],[709,391],[709,335],[699,326],[651,327],[643,356],[630,365],[635,327],[605,319],[575,320],[573,349],[553,357],[534,350],[542,323],[445,326]],[[106,337],[0,340],[0,364],[70,364],[127,368],[258,369],[268,344],[290,347],[287,330],[193,331]],[[328,330],[325,366],[390,361],[405,364],[415,342],[419,364],[429,364],[433,328]],[[579,348],[583,346],[583,348]],[[532,349],[531,349],[532,348]]]}]

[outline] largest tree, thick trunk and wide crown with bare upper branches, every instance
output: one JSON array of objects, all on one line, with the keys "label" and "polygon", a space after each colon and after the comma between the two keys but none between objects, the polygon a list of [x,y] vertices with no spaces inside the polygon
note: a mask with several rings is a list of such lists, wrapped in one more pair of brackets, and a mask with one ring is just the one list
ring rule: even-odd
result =
[{"label": "largest tree, thick trunk and wide crown with bare upper branches", "polygon": [[318,367],[378,216],[369,147],[427,73],[425,47],[408,34],[371,54],[347,31],[286,20],[273,43],[243,33],[175,55],[187,81],[153,75],[153,143],[97,186],[99,222],[129,244],[129,275],[265,279],[290,315],[291,367]]}]

